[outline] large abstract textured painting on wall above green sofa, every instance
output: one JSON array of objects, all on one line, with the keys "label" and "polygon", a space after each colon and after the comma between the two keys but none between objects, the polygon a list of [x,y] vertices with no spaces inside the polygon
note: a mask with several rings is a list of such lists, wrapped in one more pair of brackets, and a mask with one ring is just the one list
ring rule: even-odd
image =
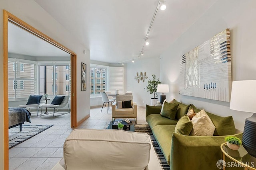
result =
[{"label": "large abstract textured painting on wall above green sofa", "polygon": [[180,94],[230,102],[231,85],[229,29],[180,58]]}]

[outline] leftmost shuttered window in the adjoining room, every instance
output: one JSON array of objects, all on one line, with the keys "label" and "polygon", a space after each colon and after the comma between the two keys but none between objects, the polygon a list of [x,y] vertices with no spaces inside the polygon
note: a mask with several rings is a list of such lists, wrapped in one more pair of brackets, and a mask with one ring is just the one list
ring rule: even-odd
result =
[{"label": "leftmost shuttered window in the adjoining room", "polygon": [[36,62],[22,59],[8,59],[8,99],[27,100],[36,94]]}]

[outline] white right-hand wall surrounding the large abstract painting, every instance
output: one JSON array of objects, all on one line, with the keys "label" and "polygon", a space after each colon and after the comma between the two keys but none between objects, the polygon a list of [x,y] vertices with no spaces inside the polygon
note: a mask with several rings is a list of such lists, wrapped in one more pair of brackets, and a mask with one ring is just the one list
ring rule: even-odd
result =
[{"label": "white right-hand wall surrounding the large abstract painting", "polygon": [[161,55],[161,79],[170,84],[170,93],[177,100],[194,104],[217,115],[232,115],[236,128],[243,131],[244,121],[252,113],[229,109],[229,102],[220,102],[179,95],[179,59],[184,53],[202,44],[220,31],[230,28],[232,80],[256,79],[256,1],[218,0],[209,10]]}]

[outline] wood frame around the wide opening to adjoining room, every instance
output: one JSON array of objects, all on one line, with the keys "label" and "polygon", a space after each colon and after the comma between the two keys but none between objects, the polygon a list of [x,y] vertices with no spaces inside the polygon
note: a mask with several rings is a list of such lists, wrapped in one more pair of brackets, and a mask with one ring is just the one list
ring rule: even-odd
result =
[{"label": "wood frame around the wide opening to adjoining room", "polygon": [[37,36],[44,41],[62,49],[66,53],[69,53],[70,62],[71,62],[71,127],[77,127],[77,115],[76,115],[76,53],[71,51],[70,49],[66,48],[65,46],[61,45],[54,39],[48,37],[44,33],[40,32],[38,29],[32,27],[28,23],[20,20],[16,16],[12,15],[11,13],[3,10],[4,12],[4,28],[3,28],[3,73],[4,73],[4,80],[3,80],[3,87],[4,87],[4,170],[8,170],[9,168],[9,140],[8,140],[8,127],[9,127],[9,114],[8,114],[8,22],[14,23],[15,25],[21,27],[25,31],[32,33],[33,35]]}]

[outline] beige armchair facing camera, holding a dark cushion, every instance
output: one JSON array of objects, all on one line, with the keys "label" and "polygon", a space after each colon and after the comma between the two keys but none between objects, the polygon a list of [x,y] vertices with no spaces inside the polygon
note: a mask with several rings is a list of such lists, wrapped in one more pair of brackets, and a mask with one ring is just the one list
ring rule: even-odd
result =
[{"label": "beige armchair facing camera, holding a dark cushion", "polygon": [[[122,102],[130,100],[132,108],[123,108],[124,103]],[[112,121],[114,121],[115,118],[135,118],[135,123],[137,123],[137,104],[133,102],[132,95],[116,96],[116,102],[112,104]]]}]

